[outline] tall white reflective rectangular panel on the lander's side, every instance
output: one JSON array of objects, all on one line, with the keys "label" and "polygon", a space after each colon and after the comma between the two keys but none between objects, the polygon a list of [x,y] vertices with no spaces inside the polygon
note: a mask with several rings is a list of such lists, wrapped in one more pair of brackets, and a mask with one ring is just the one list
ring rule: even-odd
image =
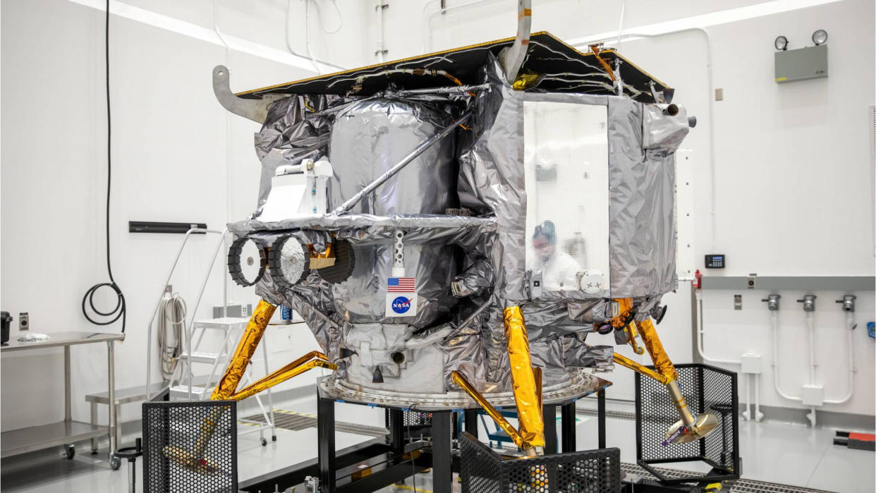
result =
[{"label": "tall white reflective rectangular panel on the lander's side", "polygon": [[545,291],[607,295],[607,108],[524,102],[526,269]]}]

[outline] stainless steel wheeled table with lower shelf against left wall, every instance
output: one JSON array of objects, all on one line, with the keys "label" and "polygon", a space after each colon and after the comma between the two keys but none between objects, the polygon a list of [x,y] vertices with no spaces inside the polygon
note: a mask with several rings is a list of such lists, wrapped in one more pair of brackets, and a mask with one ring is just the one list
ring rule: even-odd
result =
[{"label": "stainless steel wheeled table with lower shelf against left wall", "polygon": [[[59,445],[69,445],[76,441],[88,440],[103,434],[109,436],[109,459],[114,464],[112,453],[117,447],[117,423],[116,406],[109,406],[109,426],[96,426],[90,423],[74,421],[70,415],[70,347],[80,344],[94,344],[106,342],[107,344],[107,372],[109,401],[115,400],[116,392],[116,365],[114,356],[114,344],[124,341],[124,334],[102,334],[95,332],[55,332],[48,334],[49,339],[37,342],[18,342],[22,333],[13,334],[10,342],[0,346],[0,354],[11,351],[25,351],[27,349],[64,348],[64,420],[49,425],[30,426],[10,432],[0,433],[0,457],[25,454],[34,450],[40,450]],[[73,455],[68,448],[68,457]]]}]

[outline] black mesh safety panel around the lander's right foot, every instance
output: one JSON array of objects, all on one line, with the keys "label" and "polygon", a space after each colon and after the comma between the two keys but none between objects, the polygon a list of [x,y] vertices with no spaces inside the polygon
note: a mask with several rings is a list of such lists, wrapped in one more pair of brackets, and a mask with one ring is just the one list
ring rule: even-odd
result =
[{"label": "black mesh safety panel around the lander's right foot", "polygon": [[[717,430],[702,440],[664,446],[669,426],[678,421],[678,412],[666,387],[636,373],[636,458],[639,465],[704,461],[710,472],[691,472],[687,479],[725,476],[738,477],[738,397],[735,372],[705,364],[675,365],[682,394],[691,412],[714,414]],[[664,478],[661,478],[661,480]],[[678,481],[672,481],[678,482]]]}]

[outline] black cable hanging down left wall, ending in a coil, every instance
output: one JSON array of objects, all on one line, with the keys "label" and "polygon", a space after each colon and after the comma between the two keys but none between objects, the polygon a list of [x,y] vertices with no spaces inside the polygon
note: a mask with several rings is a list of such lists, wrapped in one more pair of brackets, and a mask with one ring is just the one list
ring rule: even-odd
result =
[{"label": "black cable hanging down left wall, ending in a coil", "polygon": [[[82,297],[82,314],[85,315],[85,318],[88,319],[89,322],[95,325],[109,325],[116,320],[122,319],[122,333],[124,334],[124,324],[127,315],[127,307],[124,304],[124,294],[122,293],[122,289],[118,287],[116,284],[116,279],[112,276],[112,264],[109,261],[109,192],[112,189],[112,124],[110,120],[110,112],[109,112],[109,0],[106,2],[106,22],[105,22],[105,32],[104,38],[106,41],[106,50],[105,50],[105,59],[106,59],[106,89],[107,89],[107,203],[106,203],[106,247],[107,247],[107,274],[109,274],[109,282],[108,283],[99,283],[88,288],[88,291],[85,292],[85,296]],[[95,292],[100,290],[102,287],[109,287],[109,289],[116,292],[116,306],[113,307],[109,312],[102,312],[95,307]],[[96,317],[102,317],[109,320],[95,320],[92,318],[92,313],[88,313],[88,306],[91,307],[91,312],[96,315]]]}]

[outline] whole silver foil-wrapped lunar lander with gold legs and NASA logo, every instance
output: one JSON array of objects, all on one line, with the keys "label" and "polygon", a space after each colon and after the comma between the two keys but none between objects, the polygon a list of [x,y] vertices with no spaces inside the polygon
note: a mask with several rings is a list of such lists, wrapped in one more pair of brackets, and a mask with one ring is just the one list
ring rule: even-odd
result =
[{"label": "whole silver foil-wrapped lunar lander with gold legs and NASA logo", "polygon": [[[619,364],[665,386],[679,421],[664,445],[714,431],[655,330],[677,285],[673,153],[696,119],[615,51],[530,34],[524,4],[512,39],[237,95],[215,68],[223,106],[263,126],[258,204],[228,255],[261,301],[213,399],[319,367],[347,402],[480,406],[535,456],[542,405]],[[279,305],[321,351],[238,389]]]}]

